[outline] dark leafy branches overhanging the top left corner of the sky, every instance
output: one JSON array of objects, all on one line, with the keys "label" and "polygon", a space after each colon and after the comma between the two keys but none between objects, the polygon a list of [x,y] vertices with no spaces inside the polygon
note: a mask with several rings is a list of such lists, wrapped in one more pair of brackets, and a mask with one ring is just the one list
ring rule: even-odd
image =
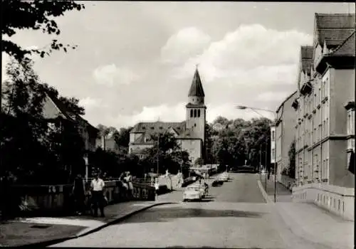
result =
[{"label": "dark leafy branches overhanging the top left corner of the sky", "polygon": [[51,44],[45,48],[21,48],[9,38],[14,36],[21,29],[41,30],[48,35],[58,36],[61,30],[58,28],[54,18],[63,16],[66,11],[84,9],[83,4],[76,4],[74,1],[1,1],[1,9],[3,9],[1,34],[2,52],[23,60],[26,55],[36,53],[44,57],[52,51],[63,50],[67,52],[67,48],[75,48],[75,46],[63,45],[58,43],[58,40],[53,39]]}]

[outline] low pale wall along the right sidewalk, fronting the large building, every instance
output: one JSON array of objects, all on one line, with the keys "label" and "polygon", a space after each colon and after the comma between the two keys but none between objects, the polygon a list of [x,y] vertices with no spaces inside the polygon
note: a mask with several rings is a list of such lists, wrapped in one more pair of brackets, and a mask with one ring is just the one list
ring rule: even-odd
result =
[{"label": "low pale wall along the right sidewalk, fronting the large building", "polygon": [[293,188],[293,202],[310,202],[341,216],[355,220],[355,189],[333,185],[306,184]]}]

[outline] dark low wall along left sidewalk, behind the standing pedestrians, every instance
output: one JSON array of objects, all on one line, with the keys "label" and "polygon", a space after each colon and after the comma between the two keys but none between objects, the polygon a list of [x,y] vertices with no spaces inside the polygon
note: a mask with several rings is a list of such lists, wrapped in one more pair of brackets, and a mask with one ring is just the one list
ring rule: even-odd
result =
[{"label": "dark low wall along left sidewalk, behind the standing pedestrians", "polygon": [[[109,203],[120,201],[155,201],[155,188],[147,184],[133,183],[133,196],[119,187],[118,181],[105,181],[105,196]],[[89,184],[86,186],[89,189]],[[28,213],[68,213],[73,207],[70,193],[73,185],[12,186],[13,196],[26,200]]]}]

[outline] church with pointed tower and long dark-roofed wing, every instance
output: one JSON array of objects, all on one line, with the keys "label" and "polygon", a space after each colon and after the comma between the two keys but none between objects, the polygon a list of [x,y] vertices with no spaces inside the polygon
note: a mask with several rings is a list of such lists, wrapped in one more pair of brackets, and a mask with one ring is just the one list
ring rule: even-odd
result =
[{"label": "church with pointed tower and long dark-roofed wing", "polygon": [[204,104],[204,90],[198,69],[195,70],[192,85],[188,94],[186,120],[182,122],[140,122],[130,131],[129,153],[137,154],[143,149],[157,146],[151,135],[171,132],[176,137],[182,149],[189,152],[194,161],[204,158],[206,106]]}]

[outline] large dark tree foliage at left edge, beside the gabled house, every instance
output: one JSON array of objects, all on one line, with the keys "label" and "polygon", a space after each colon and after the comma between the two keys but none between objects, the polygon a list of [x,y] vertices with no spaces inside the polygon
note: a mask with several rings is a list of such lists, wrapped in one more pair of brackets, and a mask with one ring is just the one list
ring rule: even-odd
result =
[{"label": "large dark tree foliage at left edge, beside the gabled house", "polygon": [[[1,173],[13,174],[27,184],[63,183],[68,181],[70,171],[84,169],[83,138],[75,123],[43,117],[49,87],[40,83],[32,65],[30,60],[11,60],[6,65],[9,77],[4,82],[1,103]],[[51,91],[57,92],[54,88]],[[54,127],[49,125],[52,122]]]}]

